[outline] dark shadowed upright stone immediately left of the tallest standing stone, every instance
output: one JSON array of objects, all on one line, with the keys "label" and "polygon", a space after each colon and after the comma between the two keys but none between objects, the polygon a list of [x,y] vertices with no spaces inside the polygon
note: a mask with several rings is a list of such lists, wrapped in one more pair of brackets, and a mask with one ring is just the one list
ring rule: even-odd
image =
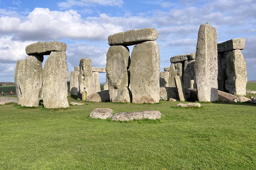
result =
[{"label": "dark shadowed upright stone immediately left of the tallest standing stone", "polygon": [[[184,71],[183,71],[184,88],[191,88],[190,80],[194,80],[194,82],[196,81],[195,62],[196,60],[187,60],[184,62]],[[196,88],[196,86],[194,86],[193,88]]]}]

